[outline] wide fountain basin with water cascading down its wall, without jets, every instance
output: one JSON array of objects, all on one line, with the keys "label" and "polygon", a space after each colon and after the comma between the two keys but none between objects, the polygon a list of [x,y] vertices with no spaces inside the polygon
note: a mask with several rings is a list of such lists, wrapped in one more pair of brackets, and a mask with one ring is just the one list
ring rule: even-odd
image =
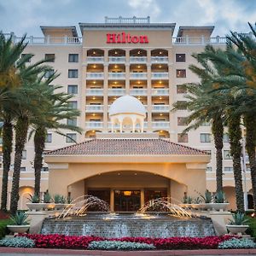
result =
[{"label": "wide fountain basin with water cascading down its wall, without jets", "polygon": [[46,218],[41,234],[66,236],[172,237],[215,236],[210,218],[173,217],[148,213],[90,213],[71,218]]}]

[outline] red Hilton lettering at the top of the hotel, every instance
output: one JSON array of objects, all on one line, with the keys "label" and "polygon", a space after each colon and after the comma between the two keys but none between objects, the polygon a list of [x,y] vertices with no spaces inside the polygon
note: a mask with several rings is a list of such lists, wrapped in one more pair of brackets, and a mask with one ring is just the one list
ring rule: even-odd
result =
[{"label": "red Hilton lettering at the top of the hotel", "polygon": [[107,34],[107,44],[148,44],[148,36],[131,36],[130,33]]}]

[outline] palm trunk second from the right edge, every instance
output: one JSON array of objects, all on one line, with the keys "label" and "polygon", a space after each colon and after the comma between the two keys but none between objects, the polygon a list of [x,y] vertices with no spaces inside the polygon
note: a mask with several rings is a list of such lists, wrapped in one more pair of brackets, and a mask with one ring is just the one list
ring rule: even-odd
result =
[{"label": "palm trunk second from the right edge", "polygon": [[240,116],[229,115],[228,127],[230,134],[230,154],[233,157],[233,171],[236,190],[236,207],[239,212],[244,212],[243,189],[241,181],[241,127]]}]

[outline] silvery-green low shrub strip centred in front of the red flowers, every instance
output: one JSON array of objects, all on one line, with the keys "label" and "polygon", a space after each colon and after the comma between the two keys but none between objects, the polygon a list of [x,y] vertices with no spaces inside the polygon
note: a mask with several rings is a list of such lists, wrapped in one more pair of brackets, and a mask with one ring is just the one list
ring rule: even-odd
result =
[{"label": "silvery-green low shrub strip centred in front of the red flowers", "polygon": [[131,241],[91,241],[88,249],[107,250],[107,251],[136,251],[136,250],[154,250],[153,244]]}]

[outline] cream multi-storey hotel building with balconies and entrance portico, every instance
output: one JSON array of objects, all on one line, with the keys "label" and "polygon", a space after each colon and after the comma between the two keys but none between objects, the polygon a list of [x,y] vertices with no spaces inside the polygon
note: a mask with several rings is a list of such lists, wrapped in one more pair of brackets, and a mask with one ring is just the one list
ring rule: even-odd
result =
[{"label": "cream multi-storey hotel building with balconies and entrance portico", "polygon": [[[31,62],[44,58],[54,59],[49,63],[53,68],[52,72],[56,70],[61,73],[55,79],[55,84],[61,84],[63,86],[61,90],[73,94],[70,104],[73,108],[79,108],[81,112],[78,119],[68,119],[65,122],[79,125],[83,128],[83,133],[80,135],[72,131],[65,132],[69,137],[82,144],[84,141],[85,143],[93,142],[97,140],[95,137],[100,137],[99,140],[102,140],[102,144],[94,146],[100,148],[98,154],[101,157],[96,158],[95,155],[92,157],[93,154],[86,156],[86,147],[84,157],[80,155],[80,159],[78,158],[76,162],[72,160],[73,151],[64,150],[66,160],[63,157],[61,160],[57,159],[55,154],[57,151],[53,151],[53,154],[46,154],[42,170],[42,193],[49,189],[49,192],[58,193],[59,191],[60,194],[71,195],[74,198],[91,192],[94,195],[103,196],[104,199],[107,198],[114,210],[116,205],[114,201],[118,196],[116,194],[124,194],[125,191],[126,194],[130,191],[130,195],[132,193],[132,195],[138,195],[140,205],[146,201],[147,196],[148,198],[156,195],[168,196],[181,201],[184,193],[196,197],[196,188],[200,191],[204,191],[206,188],[212,192],[215,191],[215,149],[210,124],[201,125],[196,131],[189,131],[188,134],[181,136],[185,128],[184,118],[188,116],[189,112],[186,109],[178,109],[176,112],[170,110],[174,102],[186,100],[184,96],[187,91],[183,84],[199,82],[196,75],[189,70],[190,64],[196,64],[191,55],[200,53],[207,44],[212,44],[216,48],[224,48],[225,38],[212,38],[213,26],[179,26],[177,34],[174,35],[175,23],[151,23],[149,17],[106,17],[104,23],[79,23],[79,27],[82,37],[78,36],[76,26],[41,26],[44,37],[26,38],[28,45],[24,54],[34,54]],[[14,36],[14,41],[19,41],[19,38]],[[157,155],[160,151],[157,149],[155,154],[153,151],[152,154],[144,156],[143,151],[138,154],[134,153],[133,164],[137,163],[136,166],[129,166],[132,161],[131,157],[126,160],[125,157],[123,160],[115,160],[117,154],[113,153],[111,153],[112,158],[109,160],[108,153],[104,150],[101,151],[102,147],[111,147],[110,144],[107,146],[104,144],[107,142],[104,141],[104,138],[117,139],[114,134],[120,134],[122,129],[120,127],[123,126],[120,126],[120,121],[112,122],[108,110],[113,102],[125,95],[136,97],[146,109],[146,117],[143,119],[143,134],[148,134],[150,139],[156,136],[160,138],[161,142],[185,146],[179,148],[180,151],[178,152],[182,152],[184,148],[192,147],[207,152],[207,156],[203,152],[197,152],[196,157],[193,156],[195,154],[194,149],[191,149],[193,152],[186,151],[190,159],[194,157],[194,160],[191,160],[194,167],[191,167],[192,163],[190,163],[189,158],[175,160],[175,155],[171,151],[168,154],[170,154],[172,161],[159,160]],[[132,106],[126,107],[132,109]],[[140,124],[135,122],[133,125],[133,131],[135,131],[133,133],[134,135],[137,134],[137,140],[145,140],[144,135],[138,135],[139,132],[137,132]],[[127,135],[128,133],[122,131],[124,139],[123,134]],[[125,139],[129,139],[127,136]],[[127,142],[123,143],[125,147]],[[150,144],[151,142],[147,144],[143,141],[143,143],[143,147],[154,148],[154,144]],[[48,132],[45,141],[47,151],[71,145],[73,145],[73,141],[68,137],[61,137],[51,131]],[[134,147],[140,146],[136,143]],[[162,145],[160,144],[159,147]],[[76,149],[79,150],[79,148]],[[28,141],[23,152],[20,169],[20,208],[26,208],[26,197],[33,193],[33,150],[32,140]],[[121,150],[119,146],[117,150]],[[140,162],[143,157],[145,160]],[[236,207],[235,183],[227,133],[224,134],[223,157],[224,192],[230,201],[230,208],[234,209]],[[67,159],[70,160],[69,163]],[[245,160],[247,161],[246,157]],[[93,175],[89,175],[89,167],[85,168],[87,171],[83,171],[84,167],[81,165],[85,165],[86,161],[90,165]],[[145,161],[147,166],[141,168],[141,165],[146,163]],[[109,166],[110,162],[113,164],[112,167]],[[181,162],[185,163],[186,168],[175,167],[177,163]],[[96,164],[99,164],[96,167],[97,171],[93,170],[93,166]],[[166,165],[170,167],[168,167],[169,169],[166,168],[169,170],[168,172],[172,172],[172,175],[170,173],[170,175],[163,174],[167,172],[167,169],[165,170]],[[195,165],[200,166],[198,168],[201,169],[197,174],[194,173]],[[106,172],[104,171],[105,168]],[[194,171],[192,172],[193,168]],[[68,172],[63,171],[67,169]],[[62,171],[56,174],[59,172],[56,170]],[[75,170],[80,170],[77,177],[74,177],[76,176]],[[180,171],[178,172],[178,170]],[[9,195],[12,180],[11,172]],[[84,172],[86,174],[83,174]],[[51,175],[51,173],[55,173],[57,176]],[[106,177],[103,177],[103,173]],[[115,179],[116,176],[118,176],[117,179]],[[65,177],[65,181],[61,177]],[[125,179],[124,184],[120,177]],[[201,181],[200,177],[203,177],[204,181]],[[69,179],[72,180],[72,183],[68,183]],[[142,183],[139,182],[140,179],[143,181]],[[183,180],[186,182],[183,183]],[[189,181],[191,189],[184,189],[177,185],[183,183],[185,187],[188,187],[190,186]],[[244,188],[250,194],[252,186],[248,168],[243,173],[243,181]],[[61,183],[65,183],[65,186],[61,187]],[[148,183],[150,183],[151,190],[146,189]],[[202,186],[201,183],[203,183]],[[76,184],[79,189],[74,189],[76,186],[72,184]],[[117,209],[119,209],[118,206]],[[124,211],[123,208],[121,210]]]}]

